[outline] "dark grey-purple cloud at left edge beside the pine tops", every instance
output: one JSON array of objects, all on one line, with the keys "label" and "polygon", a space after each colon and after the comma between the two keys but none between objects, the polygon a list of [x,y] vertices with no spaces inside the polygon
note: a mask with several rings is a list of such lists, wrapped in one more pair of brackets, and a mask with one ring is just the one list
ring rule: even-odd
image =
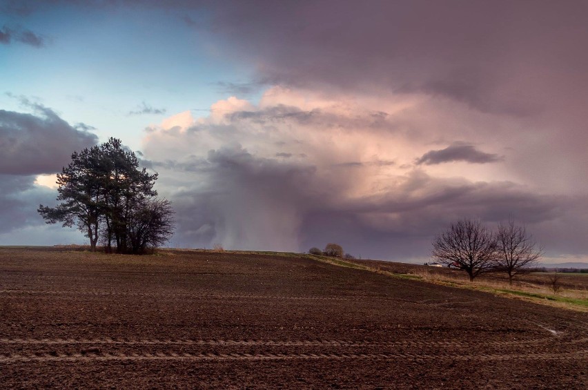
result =
[{"label": "dark grey-purple cloud at left edge beside the pine tops", "polygon": [[53,110],[27,104],[34,114],[0,110],[0,174],[57,173],[74,150],[97,143],[97,136],[70,126]]}]

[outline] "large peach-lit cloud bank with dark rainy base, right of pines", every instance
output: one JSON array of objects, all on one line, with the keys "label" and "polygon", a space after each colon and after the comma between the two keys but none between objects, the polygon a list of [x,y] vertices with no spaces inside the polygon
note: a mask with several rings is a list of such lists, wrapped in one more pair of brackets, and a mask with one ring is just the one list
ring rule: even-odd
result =
[{"label": "large peach-lit cloud bank with dark rainy base, right of pines", "polygon": [[[428,103],[415,101],[406,109],[275,87],[258,105],[233,97],[209,117],[182,113],[149,128],[145,158],[175,202],[175,244],[303,251],[340,242],[363,257],[422,259],[457,217],[513,215],[551,249],[564,246],[549,240],[549,226],[582,198],[537,193],[496,175],[503,166],[472,164],[500,157],[470,144],[427,150],[435,134],[416,129],[415,113]],[[435,170],[450,161],[453,171]],[[565,248],[587,249],[580,240]]]}]

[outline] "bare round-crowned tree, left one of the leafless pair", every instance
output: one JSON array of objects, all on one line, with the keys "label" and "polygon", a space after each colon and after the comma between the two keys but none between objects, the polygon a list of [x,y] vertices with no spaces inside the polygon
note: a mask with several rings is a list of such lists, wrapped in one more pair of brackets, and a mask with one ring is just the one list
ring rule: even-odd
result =
[{"label": "bare round-crowned tree, left one of the leafless pair", "polygon": [[435,237],[433,258],[466,271],[473,281],[480,273],[491,271],[496,260],[496,238],[478,220],[459,220]]}]

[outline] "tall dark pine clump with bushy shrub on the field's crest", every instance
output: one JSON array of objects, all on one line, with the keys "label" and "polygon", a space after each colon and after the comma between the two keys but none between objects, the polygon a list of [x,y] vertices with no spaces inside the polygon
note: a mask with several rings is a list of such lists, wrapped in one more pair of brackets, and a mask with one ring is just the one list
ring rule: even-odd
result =
[{"label": "tall dark pine clump with bushy shrub on the field's crest", "polygon": [[72,154],[59,175],[56,207],[39,205],[48,224],[77,225],[96,251],[141,254],[164,244],[173,234],[171,202],[158,199],[157,173],[139,168],[135,153],[110,138],[100,146]]}]

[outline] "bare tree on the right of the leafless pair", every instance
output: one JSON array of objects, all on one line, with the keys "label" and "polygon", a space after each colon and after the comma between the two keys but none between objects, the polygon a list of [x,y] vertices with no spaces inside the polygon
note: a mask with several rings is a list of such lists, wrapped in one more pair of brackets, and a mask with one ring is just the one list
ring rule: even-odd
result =
[{"label": "bare tree on the right of the leafless pair", "polygon": [[496,268],[509,275],[510,284],[516,275],[531,272],[531,268],[536,266],[542,255],[542,249],[527,234],[525,225],[517,225],[513,220],[498,225],[496,244]]}]

